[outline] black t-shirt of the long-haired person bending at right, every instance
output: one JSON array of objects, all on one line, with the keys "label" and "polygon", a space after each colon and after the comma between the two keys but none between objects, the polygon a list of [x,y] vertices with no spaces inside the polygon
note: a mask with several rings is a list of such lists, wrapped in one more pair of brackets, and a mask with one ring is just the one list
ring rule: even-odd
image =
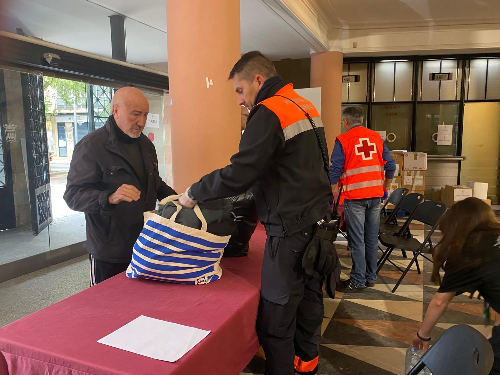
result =
[{"label": "black t-shirt of the long-haired person bending at right", "polygon": [[474,246],[475,252],[479,250],[481,254],[481,263],[463,268],[456,258],[448,259],[437,291],[461,294],[477,290],[491,308],[500,311],[500,237],[496,231],[484,231],[478,241],[473,244],[472,241],[467,242],[459,256],[466,257],[470,253],[467,250]]}]

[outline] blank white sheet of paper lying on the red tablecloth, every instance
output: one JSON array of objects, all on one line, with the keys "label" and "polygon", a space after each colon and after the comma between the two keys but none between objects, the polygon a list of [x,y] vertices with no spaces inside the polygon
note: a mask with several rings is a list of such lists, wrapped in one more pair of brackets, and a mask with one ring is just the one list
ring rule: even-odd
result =
[{"label": "blank white sheet of paper lying on the red tablecloth", "polygon": [[140,315],[97,342],[146,357],[175,362],[208,333],[209,330]]}]

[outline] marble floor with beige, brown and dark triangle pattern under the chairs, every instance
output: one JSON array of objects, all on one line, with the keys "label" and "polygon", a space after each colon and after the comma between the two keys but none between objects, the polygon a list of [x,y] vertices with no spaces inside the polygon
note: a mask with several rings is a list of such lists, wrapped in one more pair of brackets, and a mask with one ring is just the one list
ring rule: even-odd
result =
[{"label": "marble floor with beige, brown and dark triangle pattern under the chairs", "polygon": [[[411,224],[415,238],[422,239],[428,227]],[[436,243],[440,233],[434,232]],[[342,264],[341,279],[347,279],[352,265],[345,242],[336,242]],[[379,252],[381,254],[381,252]],[[405,268],[410,259],[394,250],[390,259]],[[374,288],[362,293],[336,293],[335,299],[324,295],[325,312],[319,349],[319,375],[403,375],[404,355],[418,330],[427,306],[437,290],[430,281],[432,263],[419,260],[421,274],[415,265],[395,293],[391,290],[401,275],[388,262],[379,272]],[[447,328],[469,324],[483,334],[491,331],[484,325],[482,301],[457,296],[432,331],[434,342]],[[257,353],[241,375],[263,374],[263,354]]]}]

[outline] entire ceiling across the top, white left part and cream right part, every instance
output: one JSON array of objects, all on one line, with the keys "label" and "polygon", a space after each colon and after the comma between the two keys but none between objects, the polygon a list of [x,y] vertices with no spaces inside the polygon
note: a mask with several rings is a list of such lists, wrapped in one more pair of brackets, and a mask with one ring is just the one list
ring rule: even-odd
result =
[{"label": "entire ceiling across the top, white left part and cream right part", "polygon": [[[500,0],[240,0],[242,53],[259,49],[277,60],[307,57],[311,48],[324,48],[311,41],[306,27],[293,23],[297,17],[283,10],[286,3],[311,9],[314,16],[305,22],[307,27],[312,30],[319,22],[337,39],[353,30],[377,35],[380,29],[421,27],[430,35],[436,26],[460,29],[473,24],[487,29],[489,23],[500,23]],[[111,57],[108,16],[117,13],[126,17],[129,62],[167,61],[165,0],[4,0],[0,28],[15,32],[21,27],[46,41]],[[366,47],[373,49],[369,43]],[[166,64],[156,66],[163,69]]]}]

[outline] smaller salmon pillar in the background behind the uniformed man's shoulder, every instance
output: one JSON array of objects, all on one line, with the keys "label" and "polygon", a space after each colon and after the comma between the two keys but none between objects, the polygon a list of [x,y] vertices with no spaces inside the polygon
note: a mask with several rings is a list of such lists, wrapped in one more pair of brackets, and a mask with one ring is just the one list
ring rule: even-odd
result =
[{"label": "smaller salmon pillar in the background behind the uniformed man's shoulder", "polygon": [[321,120],[330,153],[340,134],[342,55],[336,51],[311,54],[311,87],[321,87]]}]

